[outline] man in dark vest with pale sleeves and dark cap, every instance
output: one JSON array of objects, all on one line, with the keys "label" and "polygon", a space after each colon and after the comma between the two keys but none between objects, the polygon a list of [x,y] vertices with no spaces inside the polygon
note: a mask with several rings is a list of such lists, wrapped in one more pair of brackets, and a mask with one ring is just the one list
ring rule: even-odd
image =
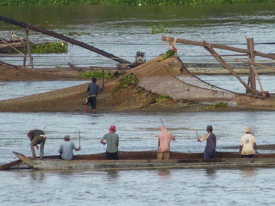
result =
[{"label": "man in dark vest with pale sleeves and dark cap", "polygon": [[197,137],[197,141],[204,142],[206,140],[204,159],[216,159],[217,137],[212,133],[213,127],[211,125],[207,126],[206,131],[208,133],[201,139]]}]

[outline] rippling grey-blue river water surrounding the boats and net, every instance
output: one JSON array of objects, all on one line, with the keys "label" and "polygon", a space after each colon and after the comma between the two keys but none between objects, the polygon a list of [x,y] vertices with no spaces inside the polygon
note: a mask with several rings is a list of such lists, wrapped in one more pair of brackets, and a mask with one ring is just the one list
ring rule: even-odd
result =
[{"label": "rippling grey-blue river water surrounding the boats and net", "polygon": [[[152,25],[168,29],[167,35],[206,40],[245,48],[245,36],[255,43],[274,41],[275,4],[224,4],[189,6],[94,6],[53,5],[28,7],[0,7],[0,14],[23,22],[39,25],[94,45],[116,56],[134,61],[138,49],[146,52],[146,59],[164,53],[161,41],[164,34],[152,35]],[[0,22],[1,33],[23,30]],[[78,36],[77,31],[83,35]],[[53,40],[31,32],[32,41]],[[256,46],[256,50],[274,53],[272,45]],[[192,46],[177,48],[195,50]],[[201,52],[204,52],[201,49]],[[179,50],[181,59],[188,62],[210,61]],[[198,55],[198,54],[195,54]],[[201,54],[203,55],[203,54]],[[66,54],[34,55],[35,67],[114,66],[108,60],[85,49],[72,46]],[[85,60],[84,60],[85,59]],[[1,57],[11,64],[22,64],[18,57]],[[229,75],[201,75],[206,82],[222,88],[244,92],[243,86]],[[261,75],[265,90],[274,90],[273,75]],[[247,77],[242,76],[243,79]],[[61,89],[86,83],[84,81],[1,82],[0,100]],[[104,152],[99,143],[111,124],[117,126],[119,150],[147,151],[157,149],[160,118],[176,137],[171,150],[203,152],[205,142],[196,141],[212,125],[218,137],[217,151],[232,151],[239,146],[246,126],[256,137],[258,145],[275,144],[275,129],[271,124],[274,111],[238,112],[100,112],[73,113],[0,113],[0,164],[16,160],[12,151],[30,156],[30,129],[43,129],[47,135],[45,155],[58,154],[65,135],[81,147],[75,154]],[[261,153],[274,152],[259,150]],[[147,169],[49,172],[33,170],[0,171],[0,202],[3,205],[274,205],[274,168],[237,169]]]}]

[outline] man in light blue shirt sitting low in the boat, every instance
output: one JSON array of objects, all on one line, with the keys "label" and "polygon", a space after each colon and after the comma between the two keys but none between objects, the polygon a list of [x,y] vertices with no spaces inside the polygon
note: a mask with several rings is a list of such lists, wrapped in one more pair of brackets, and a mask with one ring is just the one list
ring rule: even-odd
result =
[{"label": "man in light blue shirt sitting low in the boat", "polygon": [[58,152],[61,154],[64,160],[73,160],[73,149],[79,151],[81,149],[80,145],[77,148],[73,142],[70,142],[70,136],[64,136],[64,142],[61,143]]}]

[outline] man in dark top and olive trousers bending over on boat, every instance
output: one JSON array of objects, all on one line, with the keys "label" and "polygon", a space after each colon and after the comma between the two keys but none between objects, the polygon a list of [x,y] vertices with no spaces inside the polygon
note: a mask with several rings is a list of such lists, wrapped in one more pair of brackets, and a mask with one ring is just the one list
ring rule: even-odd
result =
[{"label": "man in dark top and olive trousers bending over on boat", "polygon": [[34,146],[39,150],[38,144],[40,144],[40,159],[43,159],[44,155],[44,145],[46,142],[46,135],[42,130],[30,130],[27,134],[27,137],[30,140],[30,149],[32,156],[30,158],[36,158]]}]

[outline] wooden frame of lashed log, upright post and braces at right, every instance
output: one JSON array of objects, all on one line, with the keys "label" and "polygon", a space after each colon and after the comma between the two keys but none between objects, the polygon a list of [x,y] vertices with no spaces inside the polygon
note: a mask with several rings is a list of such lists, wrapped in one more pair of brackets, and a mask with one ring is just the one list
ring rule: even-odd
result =
[{"label": "wooden frame of lashed log, upright post and braces at right", "polygon": [[[199,41],[192,41],[192,40],[187,40],[187,39],[177,39],[177,38],[167,37],[167,36],[162,36],[161,40],[165,41],[165,42],[173,42],[173,43],[177,42],[177,43],[181,43],[181,44],[190,44],[190,45],[197,45],[197,46],[204,47],[204,49],[206,49],[220,64],[222,64],[225,67],[225,69],[229,70],[230,73],[232,75],[234,75],[241,82],[242,85],[244,85],[244,87],[246,88],[246,93],[252,93],[254,95],[262,95],[263,97],[266,97],[267,92],[264,91],[263,88],[262,88],[262,84],[261,84],[260,78],[259,78],[259,76],[256,72],[255,65],[262,66],[262,67],[265,67],[265,68],[268,68],[268,69],[273,69],[273,70],[275,70],[275,68],[263,66],[261,64],[256,64],[255,63],[255,56],[257,55],[257,56],[261,56],[261,57],[264,57],[264,58],[275,60],[275,55],[257,52],[254,49],[254,39],[253,38],[246,38],[247,49],[240,49],[240,48],[235,48],[235,47],[226,46],[226,45],[222,45],[222,44],[212,44],[211,42],[207,43],[204,40],[202,42],[199,42]],[[239,62],[249,64],[249,77],[248,77],[247,84],[226,63],[226,61],[214,50],[214,48],[225,49],[225,50],[230,50],[230,51],[234,51],[234,52],[247,54],[248,60],[249,60],[248,62],[247,61],[239,61]],[[260,88],[261,88],[261,92],[258,92],[256,90],[256,78],[255,77],[258,80],[258,83],[259,83]]]}]

